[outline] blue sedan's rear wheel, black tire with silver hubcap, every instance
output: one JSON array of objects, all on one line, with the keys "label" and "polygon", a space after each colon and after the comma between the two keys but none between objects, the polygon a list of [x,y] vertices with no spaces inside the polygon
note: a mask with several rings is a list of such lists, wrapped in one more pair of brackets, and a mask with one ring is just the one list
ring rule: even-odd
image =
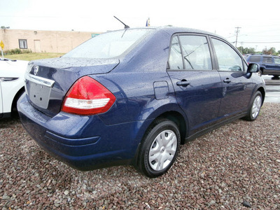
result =
[{"label": "blue sedan's rear wheel, black tire with silver hubcap", "polygon": [[156,120],[141,142],[137,169],[150,178],[165,174],[176,160],[180,143],[176,123],[167,119]]}]

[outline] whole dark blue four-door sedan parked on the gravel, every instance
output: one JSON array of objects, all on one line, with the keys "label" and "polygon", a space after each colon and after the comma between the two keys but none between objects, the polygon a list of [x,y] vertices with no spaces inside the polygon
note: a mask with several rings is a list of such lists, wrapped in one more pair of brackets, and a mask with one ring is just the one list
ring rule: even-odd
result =
[{"label": "whole dark blue four-door sedan parked on the gravel", "polygon": [[71,167],[134,165],[157,177],[186,141],[258,117],[258,71],[205,31],[110,31],[62,57],[29,62],[18,111],[31,137]]}]

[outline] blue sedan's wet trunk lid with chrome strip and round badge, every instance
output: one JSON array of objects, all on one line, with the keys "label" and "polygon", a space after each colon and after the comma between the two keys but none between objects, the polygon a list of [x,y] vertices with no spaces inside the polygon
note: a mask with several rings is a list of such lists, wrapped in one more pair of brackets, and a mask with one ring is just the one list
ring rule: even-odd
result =
[{"label": "blue sedan's wet trunk lid with chrome strip and round badge", "polygon": [[25,90],[36,109],[55,116],[63,99],[78,78],[97,73],[109,73],[119,59],[83,59],[59,57],[29,62],[25,75]]}]

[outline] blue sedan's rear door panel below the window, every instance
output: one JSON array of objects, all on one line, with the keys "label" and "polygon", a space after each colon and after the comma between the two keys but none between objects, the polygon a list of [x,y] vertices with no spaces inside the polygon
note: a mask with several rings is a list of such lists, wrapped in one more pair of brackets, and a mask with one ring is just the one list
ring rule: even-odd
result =
[{"label": "blue sedan's rear door panel below the window", "polygon": [[[218,120],[222,94],[218,71],[168,71],[168,73],[174,84],[177,102],[188,116],[188,123],[191,125],[190,134],[215,123]],[[177,85],[181,80],[187,80],[190,85]]]}]

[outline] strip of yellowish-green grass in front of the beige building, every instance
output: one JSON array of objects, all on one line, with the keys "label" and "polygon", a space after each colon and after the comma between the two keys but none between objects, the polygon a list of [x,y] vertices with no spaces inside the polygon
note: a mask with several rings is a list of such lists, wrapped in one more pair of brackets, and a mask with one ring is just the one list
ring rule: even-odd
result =
[{"label": "strip of yellowish-green grass in front of the beige building", "polygon": [[45,59],[45,58],[53,58],[60,57],[65,53],[55,53],[55,52],[41,52],[41,53],[25,53],[25,54],[16,54],[16,55],[5,55],[5,57],[10,59],[22,59],[22,60],[34,60],[34,59]]}]

